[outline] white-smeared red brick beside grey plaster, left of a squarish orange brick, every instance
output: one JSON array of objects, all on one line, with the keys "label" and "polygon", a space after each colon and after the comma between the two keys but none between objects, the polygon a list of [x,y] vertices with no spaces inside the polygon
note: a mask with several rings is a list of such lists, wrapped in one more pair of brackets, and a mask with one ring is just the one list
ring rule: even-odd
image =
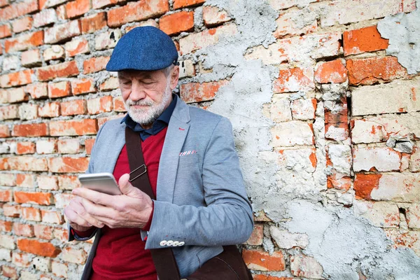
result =
[{"label": "white-smeared red brick beside grey plaster, left of a squarish orange brick", "polygon": [[311,68],[292,68],[280,70],[274,81],[274,92],[299,92],[314,89],[314,71]]}]

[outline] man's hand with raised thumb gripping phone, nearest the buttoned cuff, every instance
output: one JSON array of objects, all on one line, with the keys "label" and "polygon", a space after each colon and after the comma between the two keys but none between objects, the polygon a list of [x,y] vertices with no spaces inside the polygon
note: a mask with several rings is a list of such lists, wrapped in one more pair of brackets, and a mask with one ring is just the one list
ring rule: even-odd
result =
[{"label": "man's hand with raised thumb gripping phone, nearest the buttoned cuff", "polygon": [[87,188],[76,188],[73,195],[82,197],[82,204],[90,216],[109,228],[143,228],[153,209],[151,197],[128,181],[124,174],[118,181],[123,195],[106,195]]}]

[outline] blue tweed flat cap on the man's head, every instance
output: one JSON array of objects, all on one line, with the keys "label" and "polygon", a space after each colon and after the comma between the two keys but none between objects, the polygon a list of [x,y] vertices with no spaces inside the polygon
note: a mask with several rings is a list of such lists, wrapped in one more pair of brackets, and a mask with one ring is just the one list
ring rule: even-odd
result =
[{"label": "blue tweed flat cap on the man's head", "polygon": [[136,27],[127,32],[106,64],[107,71],[155,71],[178,63],[172,38],[156,27]]}]

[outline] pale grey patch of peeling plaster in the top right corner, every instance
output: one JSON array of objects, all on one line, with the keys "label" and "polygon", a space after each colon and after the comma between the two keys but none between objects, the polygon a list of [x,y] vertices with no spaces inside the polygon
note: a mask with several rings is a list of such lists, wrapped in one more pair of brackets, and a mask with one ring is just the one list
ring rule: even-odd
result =
[{"label": "pale grey patch of peeling plaster in the top right corner", "polygon": [[420,73],[420,0],[412,13],[390,15],[378,22],[378,31],[389,39],[386,54],[398,57],[409,74]]}]

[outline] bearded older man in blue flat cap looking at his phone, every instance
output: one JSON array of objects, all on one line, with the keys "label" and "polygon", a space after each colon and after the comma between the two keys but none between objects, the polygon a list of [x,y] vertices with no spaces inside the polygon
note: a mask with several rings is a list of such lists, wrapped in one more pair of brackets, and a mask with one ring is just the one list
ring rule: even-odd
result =
[{"label": "bearded older man in blue flat cap looking at his phone", "polygon": [[[178,52],[155,27],[123,36],[106,70],[118,71],[128,114],[99,130],[87,173],[112,173],[122,195],[77,188],[64,209],[69,240],[95,236],[83,279],[155,280],[149,249],[157,248],[172,248],[186,277],[253,229],[232,126],[172,94]],[[137,151],[127,153],[126,127],[140,136],[156,200],[129,181],[129,154]]]}]

